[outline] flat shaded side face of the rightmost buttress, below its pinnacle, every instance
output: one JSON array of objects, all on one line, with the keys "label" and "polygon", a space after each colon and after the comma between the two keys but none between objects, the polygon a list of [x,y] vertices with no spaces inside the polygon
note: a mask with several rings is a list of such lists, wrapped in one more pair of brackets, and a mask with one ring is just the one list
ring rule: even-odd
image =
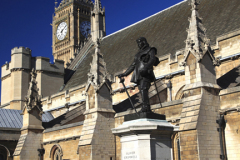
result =
[{"label": "flat shaded side face of the rightmost buttress, below its pinnacle", "polygon": [[218,160],[221,155],[218,124],[216,123],[219,118],[219,96],[215,89],[210,88],[204,88],[202,94],[197,124],[199,158]]}]

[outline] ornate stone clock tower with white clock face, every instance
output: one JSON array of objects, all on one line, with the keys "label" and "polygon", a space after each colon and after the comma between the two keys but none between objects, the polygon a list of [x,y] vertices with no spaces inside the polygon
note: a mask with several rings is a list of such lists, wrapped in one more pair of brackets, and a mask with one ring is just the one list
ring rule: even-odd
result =
[{"label": "ornate stone clock tower with white clock face", "polygon": [[81,43],[91,34],[91,0],[62,0],[55,2],[53,16],[53,58],[64,60],[64,64],[73,58]]}]

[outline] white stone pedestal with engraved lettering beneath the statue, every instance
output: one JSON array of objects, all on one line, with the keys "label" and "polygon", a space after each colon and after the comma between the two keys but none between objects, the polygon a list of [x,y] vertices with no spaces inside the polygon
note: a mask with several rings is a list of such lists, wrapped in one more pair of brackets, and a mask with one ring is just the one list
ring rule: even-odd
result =
[{"label": "white stone pedestal with engraved lettering beneath the statue", "polygon": [[178,127],[166,120],[140,118],[112,129],[120,137],[122,160],[171,160],[171,135]]}]

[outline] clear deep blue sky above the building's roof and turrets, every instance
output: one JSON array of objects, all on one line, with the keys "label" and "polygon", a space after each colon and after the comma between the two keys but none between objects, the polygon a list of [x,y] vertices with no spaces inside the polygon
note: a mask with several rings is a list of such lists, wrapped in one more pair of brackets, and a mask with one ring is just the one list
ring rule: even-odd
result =
[{"label": "clear deep blue sky above the building's roof and turrets", "polygon": [[[57,0],[61,2],[61,0]],[[101,0],[106,9],[107,35],[183,0]],[[11,49],[24,46],[32,56],[52,58],[52,15],[55,0],[0,1],[0,65],[11,59]]]}]

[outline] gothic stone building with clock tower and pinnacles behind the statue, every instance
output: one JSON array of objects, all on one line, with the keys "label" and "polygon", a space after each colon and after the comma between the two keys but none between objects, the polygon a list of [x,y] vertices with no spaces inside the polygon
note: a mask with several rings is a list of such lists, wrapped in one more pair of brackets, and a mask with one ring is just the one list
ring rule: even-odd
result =
[{"label": "gothic stone building with clock tower and pinnacles behind the statue", "polygon": [[239,24],[239,0],[184,0],[106,36],[100,0],[63,0],[52,23],[55,63],[15,47],[2,66],[0,160],[121,160],[111,129],[134,110],[116,75],[138,37],[158,51],[161,104],[154,85],[149,97],[152,111],[179,127],[172,159],[240,159]]}]

